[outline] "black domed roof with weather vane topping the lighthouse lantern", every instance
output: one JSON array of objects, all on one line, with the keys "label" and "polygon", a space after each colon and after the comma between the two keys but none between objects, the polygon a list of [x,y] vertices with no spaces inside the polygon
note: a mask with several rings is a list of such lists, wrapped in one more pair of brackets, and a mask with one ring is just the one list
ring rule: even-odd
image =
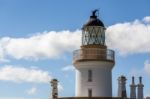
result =
[{"label": "black domed roof with weather vane topping the lighthouse lantern", "polygon": [[97,10],[92,11],[92,15],[90,16],[90,19],[83,25],[83,28],[86,26],[101,26],[105,27],[103,22],[97,18],[96,14]]}]

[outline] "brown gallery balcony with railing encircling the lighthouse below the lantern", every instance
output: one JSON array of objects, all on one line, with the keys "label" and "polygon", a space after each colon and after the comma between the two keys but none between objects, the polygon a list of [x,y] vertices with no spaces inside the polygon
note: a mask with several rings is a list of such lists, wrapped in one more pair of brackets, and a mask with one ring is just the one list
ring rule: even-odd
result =
[{"label": "brown gallery balcony with railing encircling the lighthouse below the lantern", "polygon": [[77,61],[115,61],[115,52],[110,49],[86,48],[73,52],[73,63]]}]

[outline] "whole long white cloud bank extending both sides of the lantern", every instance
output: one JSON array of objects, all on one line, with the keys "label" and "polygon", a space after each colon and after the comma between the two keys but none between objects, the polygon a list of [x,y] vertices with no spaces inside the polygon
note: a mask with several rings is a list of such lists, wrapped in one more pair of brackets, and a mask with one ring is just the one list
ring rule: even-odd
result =
[{"label": "whole long white cloud bank extending both sides of the lantern", "polygon": [[[26,38],[0,38],[0,61],[6,57],[39,60],[59,58],[81,45],[81,31],[50,31]],[[150,52],[150,16],[117,23],[106,30],[106,44],[121,55]]]}]

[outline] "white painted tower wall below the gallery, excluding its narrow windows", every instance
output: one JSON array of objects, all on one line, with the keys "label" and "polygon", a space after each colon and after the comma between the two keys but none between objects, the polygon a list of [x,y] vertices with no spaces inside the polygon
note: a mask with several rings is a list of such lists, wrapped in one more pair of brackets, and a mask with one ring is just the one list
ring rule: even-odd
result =
[{"label": "white painted tower wall below the gallery, excluding its narrow windows", "polygon": [[[92,89],[93,97],[112,96],[112,67],[108,61],[76,62],[76,97],[88,97]],[[88,70],[92,70],[92,82],[88,82]]]}]

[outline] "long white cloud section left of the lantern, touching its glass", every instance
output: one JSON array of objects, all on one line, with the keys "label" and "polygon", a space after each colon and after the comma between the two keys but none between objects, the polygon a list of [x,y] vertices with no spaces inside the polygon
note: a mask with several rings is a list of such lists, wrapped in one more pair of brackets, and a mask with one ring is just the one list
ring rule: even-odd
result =
[{"label": "long white cloud section left of the lantern, touching its glass", "polygon": [[28,38],[0,39],[0,58],[12,56],[16,59],[58,58],[65,52],[72,52],[80,45],[79,30],[44,32]]}]

